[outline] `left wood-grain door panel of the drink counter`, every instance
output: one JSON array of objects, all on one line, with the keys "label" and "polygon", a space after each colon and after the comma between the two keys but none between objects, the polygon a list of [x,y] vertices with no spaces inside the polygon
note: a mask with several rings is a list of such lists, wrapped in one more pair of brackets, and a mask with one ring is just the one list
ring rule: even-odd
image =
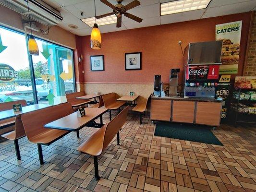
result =
[{"label": "left wood-grain door panel of the drink counter", "polygon": [[151,120],[171,120],[171,100],[151,99]]}]

